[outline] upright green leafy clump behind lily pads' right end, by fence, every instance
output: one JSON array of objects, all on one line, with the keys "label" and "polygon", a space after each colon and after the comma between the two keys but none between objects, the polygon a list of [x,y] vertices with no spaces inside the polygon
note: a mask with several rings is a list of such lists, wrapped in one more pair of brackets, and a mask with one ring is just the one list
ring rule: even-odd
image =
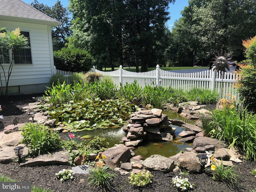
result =
[{"label": "upright green leafy clump behind lily pads' right end, by fence", "polygon": [[120,86],[120,90],[117,92],[116,96],[122,97],[130,102],[133,98],[137,98],[137,100],[140,101],[142,98],[142,88],[138,85],[136,80],[131,84],[126,82],[124,86]]}]

